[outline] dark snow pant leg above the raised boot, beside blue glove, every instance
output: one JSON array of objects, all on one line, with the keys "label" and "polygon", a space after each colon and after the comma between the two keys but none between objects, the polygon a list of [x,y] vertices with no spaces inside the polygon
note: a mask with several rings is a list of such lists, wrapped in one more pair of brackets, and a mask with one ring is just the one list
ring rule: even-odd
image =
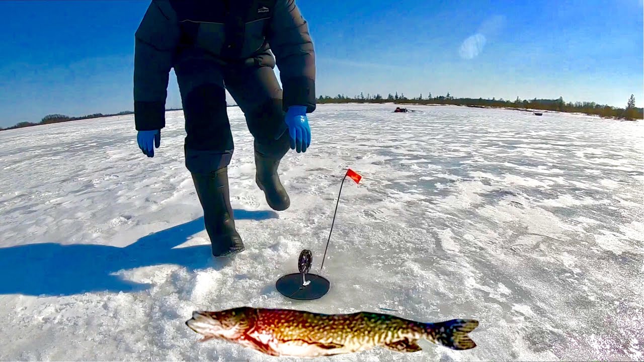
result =
[{"label": "dark snow pant leg above the raised boot, beside blue glove", "polygon": [[282,158],[290,148],[289,132],[274,139],[286,113],[282,110],[282,90],[272,66],[227,68],[226,89],[240,106],[254,137],[256,151],[270,158]]}]

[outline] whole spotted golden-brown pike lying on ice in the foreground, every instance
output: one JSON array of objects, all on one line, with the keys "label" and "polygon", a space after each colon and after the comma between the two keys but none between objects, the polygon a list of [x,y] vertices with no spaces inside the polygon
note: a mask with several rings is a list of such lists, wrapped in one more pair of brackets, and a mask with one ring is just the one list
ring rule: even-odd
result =
[{"label": "whole spotted golden-brown pike lying on ice in the foreground", "polygon": [[303,310],[240,307],[193,312],[186,325],[204,336],[224,339],[270,356],[318,357],[383,347],[417,352],[419,339],[455,350],[476,347],[468,332],[474,319],[421,323],[390,314],[320,314]]}]

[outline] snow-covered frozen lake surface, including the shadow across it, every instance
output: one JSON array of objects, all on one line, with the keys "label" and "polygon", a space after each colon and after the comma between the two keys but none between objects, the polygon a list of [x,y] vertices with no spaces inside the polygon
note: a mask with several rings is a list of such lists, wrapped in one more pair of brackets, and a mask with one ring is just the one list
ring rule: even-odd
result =
[{"label": "snow-covered frozen lake surface, including the shadow across it", "polygon": [[[276,361],[199,338],[193,310],[252,307],[475,318],[477,348],[375,348],[328,361],[644,359],[643,128],[582,115],[319,105],[291,151],[277,213],[254,183],[252,138],[229,108],[231,202],[247,250],[214,261],[184,167],[181,111],[161,148],[133,116],[0,132],[0,359]],[[274,283],[302,249],[316,301]],[[638,332],[639,330],[639,332]]]}]

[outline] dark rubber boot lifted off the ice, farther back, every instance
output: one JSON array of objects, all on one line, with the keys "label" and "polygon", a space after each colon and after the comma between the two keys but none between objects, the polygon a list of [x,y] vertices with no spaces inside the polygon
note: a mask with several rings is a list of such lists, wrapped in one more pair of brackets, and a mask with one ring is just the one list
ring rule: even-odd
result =
[{"label": "dark rubber boot lifted off the ice, farther back", "polygon": [[276,211],[284,211],[290,206],[290,198],[279,181],[278,167],[280,158],[270,158],[255,151],[255,182],[264,191],[266,202]]}]

